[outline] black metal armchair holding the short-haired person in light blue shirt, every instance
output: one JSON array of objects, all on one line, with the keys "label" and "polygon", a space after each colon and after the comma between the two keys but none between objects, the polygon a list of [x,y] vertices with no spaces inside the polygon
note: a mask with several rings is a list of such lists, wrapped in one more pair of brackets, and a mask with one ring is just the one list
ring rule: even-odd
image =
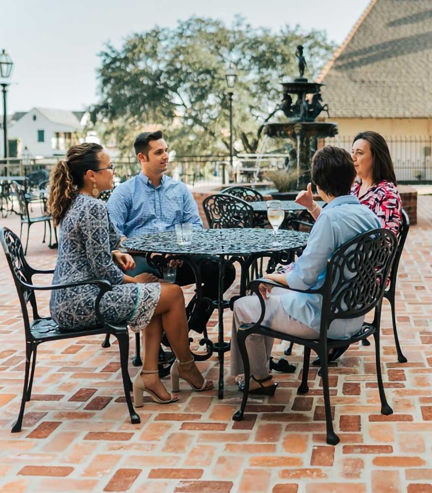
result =
[{"label": "black metal armchair holding the short-haired person in light blue shirt", "polygon": [[[303,375],[297,393],[309,391],[308,372],[311,350],[315,351],[322,361],[322,378],[324,393],[324,408],[326,422],[326,440],[330,445],[339,443],[339,437],[334,433],[331,418],[330,396],[328,387],[328,350],[359,342],[369,335],[375,339],[375,361],[381,400],[381,413],[393,413],[389,406],[382,381],[380,364],[380,318],[381,305],[386,287],[387,277],[394,261],[397,248],[396,236],[385,229],[375,229],[364,233],[338,248],[327,261],[324,284],[318,289],[292,289],[288,286],[271,282],[267,279],[255,280],[251,283],[252,291],[256,293],[261,304],[261,316],[255,323],[242,325],[237,333],[239,350],[245,368],[245,388],[241,408],[234,416],[234,421],[243,420],[249,395],[250,364],[246,348],[246,338],[251,334],[274,337],[293,341],[304,346]],[[303,339],[292,335],[271,330],[261,325],[265,316],[265,304],[258,286],[260,283],[276,285],[292,291],[318,294],[323,297],[321,326],[319,339]],[[350,339],[328,339],[327,330],[335,319],[356,318],[374,310],[372,323],[363,323],[360,331]]]}]

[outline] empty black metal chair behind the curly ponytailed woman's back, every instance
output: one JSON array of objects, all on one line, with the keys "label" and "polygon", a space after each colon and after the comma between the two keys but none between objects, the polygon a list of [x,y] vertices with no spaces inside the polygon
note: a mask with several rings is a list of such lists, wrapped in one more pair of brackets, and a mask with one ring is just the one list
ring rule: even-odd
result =
[{"label": "empty black metal chair behind the curly ponytailed woman's back", "polygon": [[20,239],[23,234],[23,224],[27,224],[27,240],[26,240],[26,247],[24,250],[24,255],[27,254],[27,246],[29,245],[29,236],[30,236],[30,226],[32,224],[35,224],[36,222],[43,222],[44,223],[44,232],[43,232],[43,239],[42,243],[45,243],[45,235],[46,235],[46,225],[48,224],[48,229],[49,229],[49,248],[57,248],[57,231],[56,228],[54,228],[54,237],[55,237],[55,243],[52,243],[52,230],[51,230],[51,220],[52,217],[49,214],[43,213],[43,215],[40,216],[34,216],[31,211],[31,206],[35,202],[40,202],[42,201],[43,205],[43,211],[45,210],[45,199],[43,197],[33,197],[26,193],[24,188],[22,188],[18,183],[15,183],[14,181],[11,182],[12,189],[15,194],[15,198],[18,201],[18,207],[19,211],[16,211],[16,213],[20,216],[21,218],[21,226],[20,226]]}]

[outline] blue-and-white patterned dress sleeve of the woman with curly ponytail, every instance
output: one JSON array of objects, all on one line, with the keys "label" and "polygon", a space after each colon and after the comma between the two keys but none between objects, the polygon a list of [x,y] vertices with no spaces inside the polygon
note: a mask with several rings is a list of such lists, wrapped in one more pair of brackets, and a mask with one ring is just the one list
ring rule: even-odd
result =
[{"label": "blue-and-white patterned dress sleeve of the woman with curly ponytail", "polygon": [[83,235],[83,247],[94,276],[111,284],[121,284],[123,272],[115,265],[111,257],[109,219],[106,205],[95,200],[80,217],[80,229]]}]

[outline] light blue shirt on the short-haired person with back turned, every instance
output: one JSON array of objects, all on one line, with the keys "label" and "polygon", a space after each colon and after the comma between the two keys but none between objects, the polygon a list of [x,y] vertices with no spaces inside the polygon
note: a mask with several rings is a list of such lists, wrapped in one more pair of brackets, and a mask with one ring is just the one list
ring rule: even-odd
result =
[{"label": "light blue shirt on the short-haired person with back turned", "polygon": [[[381,228],[378,217],[361,205],[357,197],[336,197],[318,216],[303,254],[287,274],[288,286],[294,289],[321,287],[332,253],[352,238],[376,228]],[[321,295],[287,291],[281,296],[281,302],[288,315],[320,331]],[[332,339],[348,339],[359,331],[363,320],[364,317],[333,320],[327,335]]]}]

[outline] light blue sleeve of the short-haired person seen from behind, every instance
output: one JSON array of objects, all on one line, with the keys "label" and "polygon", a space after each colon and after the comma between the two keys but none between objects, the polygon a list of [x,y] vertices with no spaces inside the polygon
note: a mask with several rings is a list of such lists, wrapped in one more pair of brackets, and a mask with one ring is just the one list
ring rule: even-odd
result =
[{"label": "light blue sleeve of the short-haired person seen from behind", "polygon": [[294,289],[316,286],[324,278],[327,260],[335,247],[334,224],[322,213],[312,228],[305,250],[286,276],[288,286]]}]

